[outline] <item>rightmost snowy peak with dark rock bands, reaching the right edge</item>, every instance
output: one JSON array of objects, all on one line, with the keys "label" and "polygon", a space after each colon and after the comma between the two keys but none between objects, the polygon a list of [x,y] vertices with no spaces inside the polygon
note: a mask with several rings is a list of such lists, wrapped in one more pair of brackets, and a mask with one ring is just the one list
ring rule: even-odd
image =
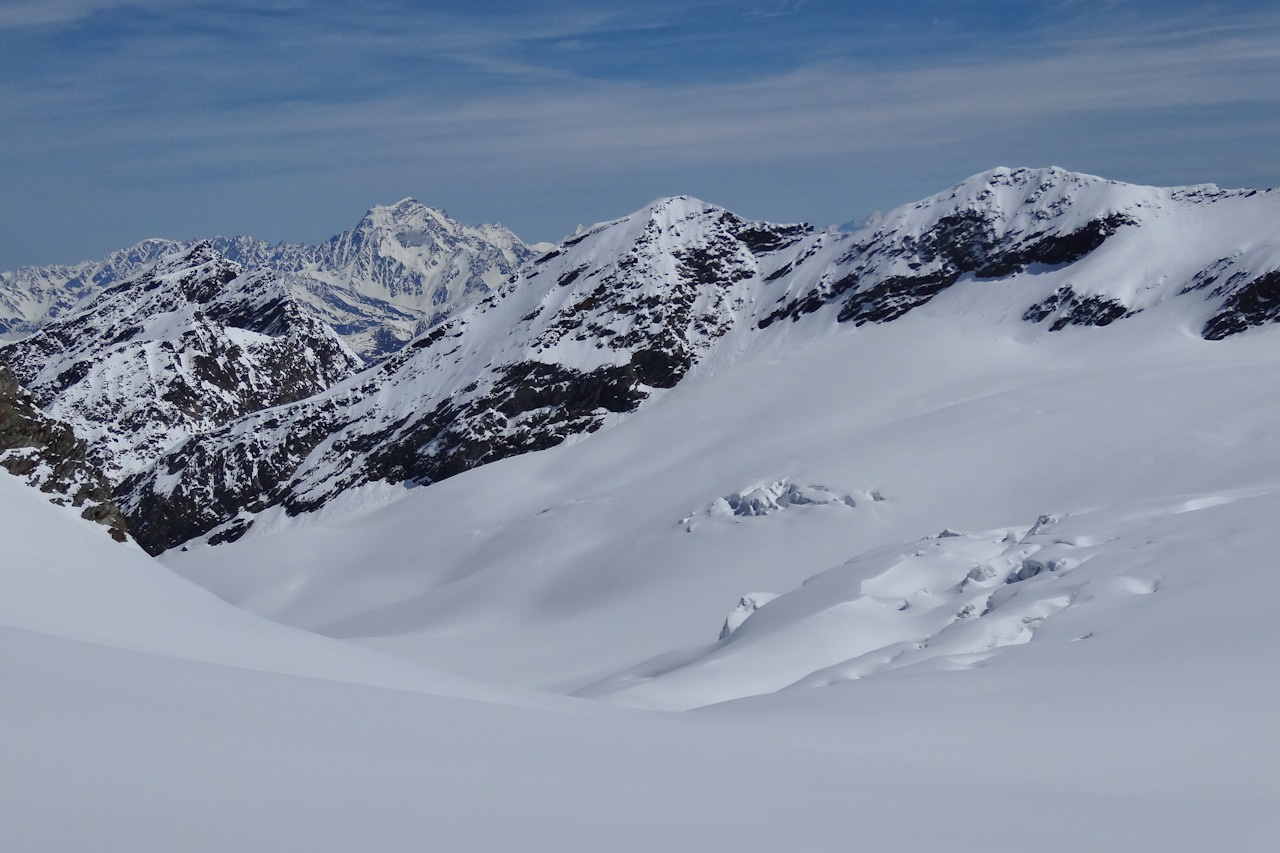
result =
[{"label": "rightmost snowy peak with dark rock bands, reaching the right edge", "polygon": [[822,260],[797,259],[804,272],[788,270],[786,292],[760,325],[828,305],[838,321],[882,323],[964,284],[957,296],[997,291],[1023,320],[1060,330],[1107,325],[1199,291],[1216,309],[1197,311],[1199,333],[1216,339],[1275,319],[1260,301],[1280,266],[1266,225],[1277,197],[1137,187],[1057,168],[993,169],[847,237],[824,234],[806,250]]}]

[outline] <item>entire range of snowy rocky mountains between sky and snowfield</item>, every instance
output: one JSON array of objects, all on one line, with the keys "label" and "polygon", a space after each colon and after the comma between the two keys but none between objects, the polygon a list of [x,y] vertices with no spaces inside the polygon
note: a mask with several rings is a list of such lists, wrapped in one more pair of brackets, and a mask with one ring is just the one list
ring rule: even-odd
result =
[{"label": "entire range of snowy rocky mountains between sky and snowfield", "polygon": [[851,233],[675,197],[536,256],[406,200],[317,247],[148,241],[6,275],[45,314],[8,319],[40,328],[0,356],[159,552],[545,448],[758,341],[934,300],[1024,334],[1138,314],[1236,334],[1280,318],[1277,199],[995,169]]}]

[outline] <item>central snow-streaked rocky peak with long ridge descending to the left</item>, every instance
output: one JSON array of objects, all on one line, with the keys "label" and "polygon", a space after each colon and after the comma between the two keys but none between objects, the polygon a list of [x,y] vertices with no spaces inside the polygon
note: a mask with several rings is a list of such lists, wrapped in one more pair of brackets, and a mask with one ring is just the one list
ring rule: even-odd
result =
[{"label": "central snow-streaked rocky peak with long ridge descending to the left", "polygon": [[654,202],[543,255],[332,393],[174,448],[122,500],[140,540],[163,549],[224,523],[216,535],[237,535],[270,506],[315,510],[374,480],[434,482],[594,432],[678,383],[809,231]]}]

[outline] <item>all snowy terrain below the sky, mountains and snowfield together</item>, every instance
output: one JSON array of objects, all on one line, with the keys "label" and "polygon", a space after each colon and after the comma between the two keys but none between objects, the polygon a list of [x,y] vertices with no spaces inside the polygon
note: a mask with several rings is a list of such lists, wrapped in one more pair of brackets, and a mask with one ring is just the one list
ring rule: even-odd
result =
[{"label": "all snowy terrain below the sky, mountains and snowfield together", "polygon": [[1280,843],[1280,192],[0,283],[6,848]]}]

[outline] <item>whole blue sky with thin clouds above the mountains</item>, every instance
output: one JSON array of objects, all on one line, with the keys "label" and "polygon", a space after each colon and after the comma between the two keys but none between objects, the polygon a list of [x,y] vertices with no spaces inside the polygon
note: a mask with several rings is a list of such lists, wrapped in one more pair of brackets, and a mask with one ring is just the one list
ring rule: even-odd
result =
[{"label": "whole blue sky with thin clouds above the mountains", "polygon": [[1280,8],[0,0],[0,269],[404,196],[536,241],[677,193],[838,223],[995,165],[1276,186]]}]

